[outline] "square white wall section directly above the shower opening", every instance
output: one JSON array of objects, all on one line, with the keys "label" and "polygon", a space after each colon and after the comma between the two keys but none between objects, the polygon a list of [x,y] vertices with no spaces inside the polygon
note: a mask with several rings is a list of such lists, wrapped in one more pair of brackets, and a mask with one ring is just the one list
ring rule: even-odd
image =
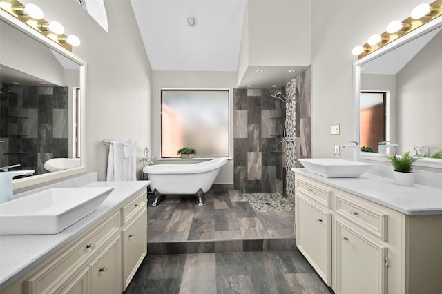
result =
[{"label": "square white wall section directly above the shower opening", "polygon": [[249,0],[249,66],[309,66],[310,1]]}]

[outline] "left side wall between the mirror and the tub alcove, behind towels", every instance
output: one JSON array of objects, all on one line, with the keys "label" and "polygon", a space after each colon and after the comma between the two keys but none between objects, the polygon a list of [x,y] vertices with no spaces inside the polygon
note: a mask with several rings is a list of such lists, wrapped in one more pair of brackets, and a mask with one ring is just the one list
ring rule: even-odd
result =
[{"label": "left side wall between the mirror and the tub alcove, behind towels", "polygon": [[[81,46],[73,53],[88,63],[86,79],[86,164],[106,178],[108,147],[103,139],[137,141],[137,159],[151,144],[151,66],[128,0],[106,0],[108,32],[76,0],[35,0],[45,19],[63,23]],[[138,169],[141,166],[138,164]],[[137,173],[140,176],[140,172]]]}]

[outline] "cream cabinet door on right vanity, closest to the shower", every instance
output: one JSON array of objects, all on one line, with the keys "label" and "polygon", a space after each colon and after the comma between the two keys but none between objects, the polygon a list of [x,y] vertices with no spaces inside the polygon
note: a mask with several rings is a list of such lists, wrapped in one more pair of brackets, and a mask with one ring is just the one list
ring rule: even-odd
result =
[{"label": "cream cabinet door on right vanity, closest to the shower", "polygon": [[301,195],[296,203],[296,246],[324,282],[332,283],[332,213]]}]

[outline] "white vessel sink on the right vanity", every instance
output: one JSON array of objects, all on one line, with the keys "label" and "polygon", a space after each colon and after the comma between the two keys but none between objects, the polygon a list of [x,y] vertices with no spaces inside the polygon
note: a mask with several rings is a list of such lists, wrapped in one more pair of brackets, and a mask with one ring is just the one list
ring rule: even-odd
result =
[{"label": "white vessel sink on the right vanity", "polygon": [[334,158],[298,159],[310,173],[323,177],[359,177],[372,168],[372,164]]}]

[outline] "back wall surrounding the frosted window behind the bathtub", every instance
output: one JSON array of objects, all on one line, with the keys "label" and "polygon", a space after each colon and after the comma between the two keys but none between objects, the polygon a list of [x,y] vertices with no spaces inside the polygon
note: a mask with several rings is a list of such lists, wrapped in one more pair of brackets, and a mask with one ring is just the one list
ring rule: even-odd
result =
[{"label": "back wall surrounding the frosted window behind the bathtub", "polygon": [[[229,89],[230,90],[230,150],[233,157],[233,88],[236,87],[236,72],[179,72],[179,71],[153,71],[152,83],[152,153],[155,159],[160,157],[160,90],[162,88],[180,89]],[[160,161],[159,163],[173,163],[173,161]],[[215,184],[233,184],[233,160],[227,161],[215,179]]]}]

